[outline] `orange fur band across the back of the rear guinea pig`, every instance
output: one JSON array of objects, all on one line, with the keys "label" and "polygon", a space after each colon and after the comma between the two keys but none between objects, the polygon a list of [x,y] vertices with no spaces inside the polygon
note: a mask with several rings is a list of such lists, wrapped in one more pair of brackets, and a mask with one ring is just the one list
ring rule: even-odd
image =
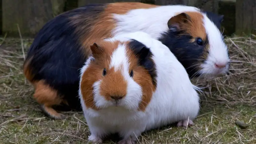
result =
[{"label": "orange fur band across the back of the rear guinea pig", "polygon": [[[103,38],[112,37],[112,30],[116,28],[116,21],[113,19],[112,14],[125,14],[133,9],[140,8],[153,8],[157,5],[153,4],[143,4],[143,3],[129,3],[129,2],[119,2],[107,4],[104,12],[101,12],[97,17],[84,17],[84,13],[79,16],[71,17],[71,22],[76,25],[77,32],[89,32],[90,34],[81,35],[80,42],[83,45],[85,58],[87,58],[90,53],[90,45],[94,42],[98,42]],[[78,25],[79,21],[85,20],[91,23],[91,27],[85,28],[85,26]]]}]

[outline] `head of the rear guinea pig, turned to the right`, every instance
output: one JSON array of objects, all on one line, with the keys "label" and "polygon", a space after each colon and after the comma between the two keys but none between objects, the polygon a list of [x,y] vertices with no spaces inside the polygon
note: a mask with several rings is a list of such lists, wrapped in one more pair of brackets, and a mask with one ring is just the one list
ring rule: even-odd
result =
[{"label": "head of the rear guinea pig, turned to the right", "polygon": [[229,54],[220,33],[223,15],[212,12],[182,12],[168,21],[163,38],[190,77],[215,77],[228,72]]}]

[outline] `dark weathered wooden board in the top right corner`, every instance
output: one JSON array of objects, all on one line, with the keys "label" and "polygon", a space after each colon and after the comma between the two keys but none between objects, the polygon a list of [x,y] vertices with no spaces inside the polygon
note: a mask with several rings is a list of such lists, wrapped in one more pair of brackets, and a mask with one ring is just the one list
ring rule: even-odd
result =
[{"label": "dark weathered wooden board in the top right corner", "polygon": [[236,34],[256,34],[256,0],[236,0]]}]

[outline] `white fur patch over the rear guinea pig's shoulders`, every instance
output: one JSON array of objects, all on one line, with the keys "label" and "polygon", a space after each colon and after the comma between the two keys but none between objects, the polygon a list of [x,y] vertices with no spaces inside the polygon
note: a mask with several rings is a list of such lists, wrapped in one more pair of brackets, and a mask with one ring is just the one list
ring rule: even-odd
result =
[{"label": "white fur patch over the rear guinea pig's shoulders", "polygon": [[126,14],[113,14],[114,19],[117,21],[117,26],[112,34],[119,35],[142,31],[158,39],[169,29],[167,25],[168,20],[175,13],[186,11],[195,12],[199,11],[199,9],[192,6],[165,5],[149,9],[135,9]]}]

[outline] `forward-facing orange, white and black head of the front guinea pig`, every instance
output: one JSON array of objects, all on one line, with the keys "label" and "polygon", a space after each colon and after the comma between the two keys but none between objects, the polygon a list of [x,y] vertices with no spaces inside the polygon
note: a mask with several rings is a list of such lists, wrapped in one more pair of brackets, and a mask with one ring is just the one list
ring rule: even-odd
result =
[{"label": "forward-facing orange, white and black head of the front guinea pig", "polygon": [[118,40],[94,43],[91,50],[80,80],[86,108],[145,110],[156,88],[150,50],[137,41]]}]

